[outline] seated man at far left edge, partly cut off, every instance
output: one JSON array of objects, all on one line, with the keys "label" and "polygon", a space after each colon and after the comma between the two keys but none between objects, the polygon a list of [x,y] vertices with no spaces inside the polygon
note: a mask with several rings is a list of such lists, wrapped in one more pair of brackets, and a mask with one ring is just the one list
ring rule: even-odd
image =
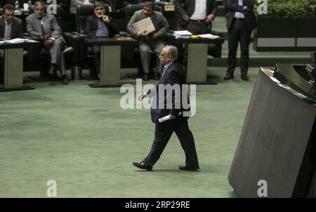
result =
[{"label": "seated man at far left edge, partly cut off", "polygon": [[[14,7],[7,4],[3,8],[4,15],[0,16],[0,41],[22,38],[22,20],[14,17]],[[4,52],[0,50],[0,83],[3,83],[2,58]]]}]

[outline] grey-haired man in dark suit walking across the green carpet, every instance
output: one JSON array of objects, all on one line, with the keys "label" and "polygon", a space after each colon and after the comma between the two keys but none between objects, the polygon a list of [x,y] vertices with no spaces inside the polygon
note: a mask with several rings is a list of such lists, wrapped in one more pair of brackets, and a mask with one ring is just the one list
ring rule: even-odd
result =
[{"label": "grey-haired man in dark suit walking across the green carpet", "polygon": [[[183,104],[183,95],[187,96],[187,87],[183,86],[186,84],[186,76],[182,65],[176,60],[177,58],[178,51],[175,46],[164,47],[160,55],[164,72],[159,83],[156,87],[138,95],[138,100],[154,97],[151,109],[152,122],[155,124],[152,148],[143,161],[133,162],[134,166],[147,171],[152,171],[152,166],[161,156],[173,132],[178,136],[185,152],[185,166],[179,166],[180,170],[195,171],[199,169],[195,140],[187,124],[190,105],[187,104],[185,107]],[[163,88],[164,86],[165,88]],[[188,98],[185,99],[188,100]],[[169,116],[169,120],[159,123],[159,119],[166,116]]]}]

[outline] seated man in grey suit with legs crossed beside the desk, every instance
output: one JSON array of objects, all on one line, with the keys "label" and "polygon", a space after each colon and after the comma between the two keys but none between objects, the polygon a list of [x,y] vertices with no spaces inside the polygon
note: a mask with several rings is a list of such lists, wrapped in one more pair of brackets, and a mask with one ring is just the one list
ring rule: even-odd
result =
[{"label": "seated man in grey suit with legs crossed beside the desk", "polygon": [[34,3],[34,14],[27,16],[27,33],[39,37],[51,55],[51,68],[48,74],[54,75],[59,69],[62,74],[62,84],[68,84],[65,58],[62,50],[65,48],[65,39],[62,30],[54,15],[45,13],[44,3]]}]

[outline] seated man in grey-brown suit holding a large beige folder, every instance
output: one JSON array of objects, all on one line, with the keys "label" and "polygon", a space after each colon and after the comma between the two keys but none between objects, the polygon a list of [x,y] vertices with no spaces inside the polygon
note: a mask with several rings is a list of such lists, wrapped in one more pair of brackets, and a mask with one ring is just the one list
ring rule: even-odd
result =
[{"label": "seated man in grey-brown suit holding a large beige folder", "polygon": [[[150,17],[154,25],[154,32],[138,32],[133,23]],[[154,52],[157,55],[156,67],[154,69],[154,79],[158,80],[162,73],[162,64],[159,61],[159,55],[164,48],[163,37],[169,24],[162,13],[154,11],[154,4],[151,1],[145,1],[143,10],[136,11],[127,25],[127,31],[133,35],[139,42],[140,59],[144,71],[143,80],[149,80],[150,73],[150,53]]]}]

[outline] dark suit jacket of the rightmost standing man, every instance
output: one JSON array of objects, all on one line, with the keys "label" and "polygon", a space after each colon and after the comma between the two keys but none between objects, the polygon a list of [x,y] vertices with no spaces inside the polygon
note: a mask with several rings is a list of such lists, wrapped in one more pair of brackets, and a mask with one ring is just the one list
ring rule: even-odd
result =
[{"label": "dark suit jacket of the rightmost standing man", "polygon": [[[253,9],[254,8],[254,0],[244,0],[244,6]],[[238,5],[238,0],[226,0],[226,8],[228,9],[228,13],[226,14],[227,18],[227,29],[230,29],[232,25],[232,20],[235,18],[235,12],[244,12],[244,17],[246,18],[246,27],[249,31],[256,29],[257,21],[254,11],[244,11],[244,6]]]}]

